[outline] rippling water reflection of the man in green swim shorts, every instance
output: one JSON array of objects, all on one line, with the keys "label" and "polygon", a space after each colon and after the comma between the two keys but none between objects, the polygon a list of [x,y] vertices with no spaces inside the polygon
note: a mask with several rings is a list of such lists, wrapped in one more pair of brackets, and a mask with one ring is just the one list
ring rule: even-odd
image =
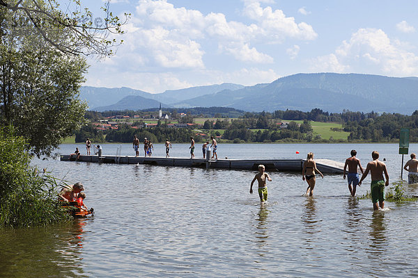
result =
[{"label": "rippling water reflection of the man in green swim shorts", "polygon": [[385,212],[374,211],[371,216],[371,231],[369,245],[370,254],[373,256],[381,255],[386,252],[386,227],[385,227]]}]

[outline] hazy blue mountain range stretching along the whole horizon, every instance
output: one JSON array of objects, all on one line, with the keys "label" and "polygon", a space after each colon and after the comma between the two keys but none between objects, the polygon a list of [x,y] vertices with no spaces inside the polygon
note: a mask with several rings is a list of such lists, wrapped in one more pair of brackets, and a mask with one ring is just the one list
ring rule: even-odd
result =
[{"label": "hazy blue mountain range stretching along the whole horizon", "polygon": [[371,74],[295,74],[272,83],[243,86],[206,85],[150,94],[130,88],[83,86],[80,97],[93,111],[141,110],[162,107],[232,107],[244,111],[387,112],[408,115],[418,109],[418,78]]}]

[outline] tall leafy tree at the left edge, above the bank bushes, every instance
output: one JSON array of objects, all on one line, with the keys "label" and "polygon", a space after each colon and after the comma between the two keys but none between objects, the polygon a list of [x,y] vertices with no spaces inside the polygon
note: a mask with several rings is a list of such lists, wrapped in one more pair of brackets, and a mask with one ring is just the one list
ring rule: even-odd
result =
[{"label": "tall leafy tree at the left edge, above the bank bushes", "polygon": [[25,36],[8,28],[26,17],[23,10],[0,8],[0,122],[13,124],[33,154],[51,156],[61,138],[84,122],[79,88],[87,65],[84,58],[41,45],[34,27]]}]

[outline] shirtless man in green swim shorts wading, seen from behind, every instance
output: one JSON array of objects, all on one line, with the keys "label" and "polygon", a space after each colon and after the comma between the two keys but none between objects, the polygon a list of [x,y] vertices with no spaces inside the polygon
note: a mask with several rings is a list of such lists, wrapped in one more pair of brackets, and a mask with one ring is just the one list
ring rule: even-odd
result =
[{"label": "shirtless man in green swim shorts wading, seen from behind", "polygon": [[[387,169],[385,163],[379,161],[379,153],[373,151],[371,153],[373,161],[367,163],[366,171],[360,179],[359,185],[362,184],[362,181],[367,177],[369,171],[371,172],[371,202],[373,202],[373,209],[377,210],[385,206],[385,186],[389,186],[389,174],[387,174]],[[383,174],[385,174],[386,182],[383,179]],[[378,205],[379,201],[379,205]]]}]

